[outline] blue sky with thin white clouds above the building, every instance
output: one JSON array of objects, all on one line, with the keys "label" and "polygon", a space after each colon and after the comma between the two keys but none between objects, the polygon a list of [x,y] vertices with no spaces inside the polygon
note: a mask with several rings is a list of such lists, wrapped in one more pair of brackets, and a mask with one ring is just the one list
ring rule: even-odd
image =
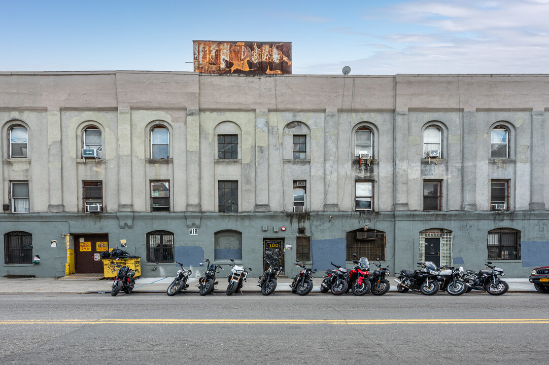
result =
[{"label": "blue sky with thin white clouds above the building", "polygon": [[0,0],[0,14],[0,71],[193,71],[192,41],[213,40],[292,42],[294,74],[549,73],[549,0]]}]

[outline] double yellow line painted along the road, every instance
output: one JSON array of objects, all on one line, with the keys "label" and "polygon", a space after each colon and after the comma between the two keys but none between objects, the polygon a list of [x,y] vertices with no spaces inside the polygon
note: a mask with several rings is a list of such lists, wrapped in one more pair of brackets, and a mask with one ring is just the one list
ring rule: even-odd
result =
[{"label": "double yellow line painted along the road", "polygon": [[549,323],[549,318],[465,319],[10,319],[0,324],[509,324]]}]

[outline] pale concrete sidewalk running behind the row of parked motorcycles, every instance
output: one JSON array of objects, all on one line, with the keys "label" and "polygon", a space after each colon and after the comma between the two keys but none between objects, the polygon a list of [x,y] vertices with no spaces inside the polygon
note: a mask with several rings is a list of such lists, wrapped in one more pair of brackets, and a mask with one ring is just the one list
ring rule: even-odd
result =
[{"label": "pale concrete sidewalk running behind the row of parked motorcycles", "polygon": [[[393,277],[388,278],[391,283],[390,291],[396,291],[396,283]],[[173,277],[166,278],[139,278],[136,280],[134,293],[165,293],[167,287],[172,282]],[[257,286],[258,278],[249,277],[242,288],[243,292],[259,292],[261,288]],[[289,292],[290,283],[293,278],[278,278],[278,284],[275,291]],[[509,284],[509,292],[531,292],[536,291],[534,284],[528,282],[528,279],[503,278]],[[224,292],[227,288],[227,278],[218,277],[219,282],[216,290]],[[111,279],[100,279],[99,276],[74,274],[64,278],[0,278],[0,294],[92,294],[92,293],[110,293]],[[320,291],[322,277],[313,279],[313,290]],[[198,293],[198,279],[190,279],[187,292]],[[473,290],[472,293],[477,292]],[[477,292],[478,293],[478,292]]]}]

